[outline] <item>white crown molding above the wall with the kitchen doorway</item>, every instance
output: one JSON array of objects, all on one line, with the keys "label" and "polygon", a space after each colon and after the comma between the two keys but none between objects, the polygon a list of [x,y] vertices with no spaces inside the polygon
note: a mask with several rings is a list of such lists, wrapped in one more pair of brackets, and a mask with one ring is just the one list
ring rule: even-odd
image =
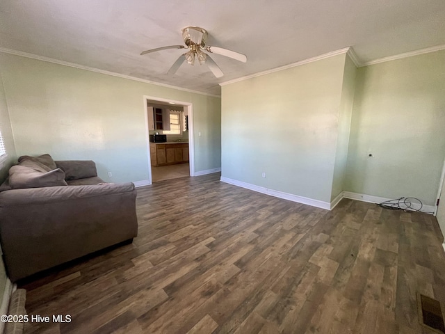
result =
[{"label": "white crown molding above the wall with the kitchen doorway", "polygon": [[139,82],[143,82],[144,84],[152,84],[152,85],[161,86],[161,87],[165,87],[165,88],[183,90],[184,92],[188,92],[188,93],[206,95],[206,96],[211,96],[211,97],[221,97],[220,95],[204,93],[204,92],[200,92],[199,90],[192,90],[192,89],[182,88],[182,87],[178,87],[178,86],[172,86],[172,85],[168,85],[168,84],[161,84],[160,82],[156,82],[156,81],[150,81],[150,80],[146,80],[146,79],[140,79],[137,77],[131,77],[130,75],[120,74],[120,73],[106,71],[106,70],[100,70],[99,68],[79,65],[79,64],[70,63],[67,61],[59,61],[58,59],[49,58],[49,57],[45,57],[45,56],[38,56],[37,54],[29,54],[28,52],[17,51],[17,50],[13,50],[13,49],[6,49],[4,47],[0,47],[0,52],[3,54],[13,54],[14,56],[31,58],[31,59],[35,59],[38,61],[46,61],[47,63],[54,63],[54,64],[58,64],[58,65],[68,66],[68,67],[74,67],[74,68],[78,68],[79,70],[86,70],[86,71],[90,71],[90,72],[111,75],[112,77],[118,77],[118,78],[122,78],[122,79],[139,81]]}]

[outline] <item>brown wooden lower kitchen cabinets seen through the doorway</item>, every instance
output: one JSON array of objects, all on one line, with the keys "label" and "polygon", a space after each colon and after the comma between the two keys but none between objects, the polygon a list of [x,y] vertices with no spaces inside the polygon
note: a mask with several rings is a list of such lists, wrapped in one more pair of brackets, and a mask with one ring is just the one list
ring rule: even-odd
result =
[{"label": "brown wooden lower kitchen cabinets seen through the doorway", "polygon": [[152,166],[167,166],[188,162],[188,143],[150,143]]}]

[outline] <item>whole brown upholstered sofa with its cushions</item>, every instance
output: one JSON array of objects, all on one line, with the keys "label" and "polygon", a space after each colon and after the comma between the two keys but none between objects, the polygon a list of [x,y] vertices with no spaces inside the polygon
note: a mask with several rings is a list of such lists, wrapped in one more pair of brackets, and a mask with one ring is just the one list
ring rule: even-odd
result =
[{"label": "whole brown upholstered sofa with its cushions", "polygon": [[0,242],[13,282],[136,237],[133,183],[105,183],[93,161],[20,157],[0,186]]}]

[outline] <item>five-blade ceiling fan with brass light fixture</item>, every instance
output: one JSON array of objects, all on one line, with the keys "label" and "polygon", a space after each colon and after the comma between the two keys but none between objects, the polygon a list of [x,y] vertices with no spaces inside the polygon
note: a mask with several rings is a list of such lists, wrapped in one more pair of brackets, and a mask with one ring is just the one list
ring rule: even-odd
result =
[{"label": "five-blade ceiling fan with brass light fixture", "polygon": [[209,56],[209,54],[204,53],[207,51],[211,54],[220,54],[229,58],[236,59],[237,61],[242,61],[243,63],[248,61],[248,58],[244,54],[240,54],[235,51],[228,49],[223,49],[222,47],[206,47],[207,31],[200,28],[199,26],[187,26],[182,29],[182,38],[184,38],[184,45],[169,45],[168,47],[157,47],[156,49],[150,49],[143,51],[140,55],[149,54],[156,51],[166,50],[166,49],[189,49],[185,54],[181,54],[177,61],[173,63],[168,74],[175,74],[179,67],[187,61],[190,65],[195,65],[195,58],[199,61],[200,65],[207,63],[211,72],[215,77],[223,77],[224,73],[215,61]]}]

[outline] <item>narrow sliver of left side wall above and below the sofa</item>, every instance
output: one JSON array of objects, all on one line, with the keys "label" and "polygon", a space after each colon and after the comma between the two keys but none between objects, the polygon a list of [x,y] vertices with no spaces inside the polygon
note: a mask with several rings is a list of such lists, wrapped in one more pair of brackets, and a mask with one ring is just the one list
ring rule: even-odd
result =
[{"label": "narrow sliver of left side wall above and below the sofa", "polygon": [[[5,144],[8,157],[0,164],[0,184],[8,177],[8,170],[13,165],[13,161],[17,159],[15,154],[15,145],[13,132],[10,125],[8,104],[6,103],[5,90],[3,89],[3,78],[0,71],[0,129],[3,143]],[[5,292],[6,286],[6,270],[3,259],[0,257],[0,303]]]}]

